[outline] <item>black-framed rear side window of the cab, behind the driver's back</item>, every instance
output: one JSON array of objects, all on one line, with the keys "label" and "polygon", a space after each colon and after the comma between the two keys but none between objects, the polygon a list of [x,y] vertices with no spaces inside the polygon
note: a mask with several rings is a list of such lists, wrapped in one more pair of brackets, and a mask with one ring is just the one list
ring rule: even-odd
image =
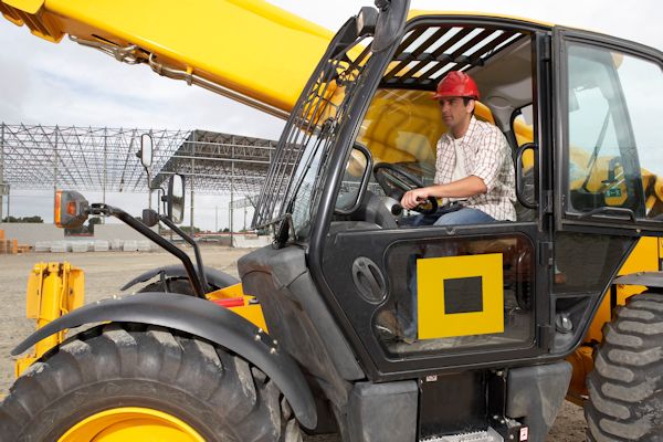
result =
[{"label": "black-framed rear side window of the cab, behind the driver's back", "polygon": [[555,30],[558,231],[663,231],[663,53]]}]

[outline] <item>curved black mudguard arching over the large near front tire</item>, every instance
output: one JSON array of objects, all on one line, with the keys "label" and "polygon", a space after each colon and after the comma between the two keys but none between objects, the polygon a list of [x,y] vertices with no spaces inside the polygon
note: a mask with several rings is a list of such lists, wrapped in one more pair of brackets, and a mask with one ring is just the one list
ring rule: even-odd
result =
[{"label": "curved black mudguard arching over the large near front tire", "polygon": [[304,427],[316,427],[317,412],[313,393],[295,360],[267,334],[240,315],[192,296],[139,293],[88,304],[34,332],[11,354],[20,355],[40,340],[65,328],[102,322],[168,327],[228,348],[276,382]]}]

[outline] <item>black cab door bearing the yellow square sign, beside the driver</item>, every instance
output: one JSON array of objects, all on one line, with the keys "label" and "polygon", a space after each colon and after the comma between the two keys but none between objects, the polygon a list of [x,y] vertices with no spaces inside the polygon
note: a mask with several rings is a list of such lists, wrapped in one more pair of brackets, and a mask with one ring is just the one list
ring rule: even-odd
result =
[{"label": "black cab door bearing the yellow square sign, beside the driver", "polygon": [[[503,85],[523,82],[520,92],[528,101],[522,105],[534,103],[530,131],[535,164],[540,164],[543,152],[550,150],[541,127],[544,115],[549,115],[543,98],[549,87],[549,66],[541,56],[549,53],[546,44],[545,30],[511,20],[412,20],[375,88],[361,91],[366,104],[358,109],[346,158],[351,161],[349,150],[356,141],[370,150],[376,165],[407,167],[424,183],[427,177],[432,179],[425,171],[434,170],[435,143],[444,128],[434,130],[441,116],[431,91],[455,65],[472,67],[476,75],[483,72],[484,84],[492,78]],[[502,64],[496,54],[503,56]],[[490,63],[502,66],[507,78],[515,75],[517,63],[524,76],[494,77],[483,70]],[[497,124],[486,106],[476,116]],[[503,131],[515,116],[501,116]],[[339,179],[337,201],[344,200],[346,183],[348,189],[358,187],[350,182],[351,165]],[[549,192],[538,172],[535,169],[536,189]],[[379,204],[388,202],[389,192],[370,182],[364,210],[336,211],[324,233],[314,233],[308,257],[316,281],[371,379],[499,367],[547,354],[550,223],[546,208],[536,204],[537,194],[529,215],[516,221],[408,227],[402,220],[385,221],[390,212]]]}]

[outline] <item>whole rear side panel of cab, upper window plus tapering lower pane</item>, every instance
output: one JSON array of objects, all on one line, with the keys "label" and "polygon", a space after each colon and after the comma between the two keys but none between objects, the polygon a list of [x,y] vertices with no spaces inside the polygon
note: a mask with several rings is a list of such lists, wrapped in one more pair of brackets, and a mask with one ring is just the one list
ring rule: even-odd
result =
[{"label": "whole rear side panel of cab, upper window plus tapering lower pane", "polygon": [[582,339],[638,239],[663,233],[663,53],[556,28],[551,303],[567,324],[554,352]]}]

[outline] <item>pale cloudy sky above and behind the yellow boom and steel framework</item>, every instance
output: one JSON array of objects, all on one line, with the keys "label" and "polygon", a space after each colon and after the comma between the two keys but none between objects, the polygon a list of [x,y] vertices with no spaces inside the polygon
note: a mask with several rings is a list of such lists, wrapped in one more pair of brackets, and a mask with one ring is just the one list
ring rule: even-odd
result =
[{"label": "pale cloudy sky above and behind the yellow boom and steel framework", "polygon": [[[330,30],[338,29],[371,1],[271,0]],[[412,0],[412,9],[465,10],[518,15],[594,30],[663,50],[663,6],[639,0]],[[186,109],[186,112],[182,112]],[[0,19],[0,122],[7,124],[76,125],[207,129],[277,139],[284,122],[181,81],[160,77],[148,66],[130,66],[69,40],[49,43]],[[101,196],[88,192],[91,201]],[[228,225],[224,197],[196,197],[196,225]],[[108,194],[106,201],[138,214],[146,196]],[[6,201],[7,204],[7,201]],[[3,211],[7,215],[7,207]],[[188,213],[188,211],[187,211]],[[12,191],[12,215],[40,214],[52,221],[52,192]],[[251,213],[246,223],[250,223]],[[185,219],[188,224],[188,218]],[[244,225],[244,213],[234,225]]]}]

